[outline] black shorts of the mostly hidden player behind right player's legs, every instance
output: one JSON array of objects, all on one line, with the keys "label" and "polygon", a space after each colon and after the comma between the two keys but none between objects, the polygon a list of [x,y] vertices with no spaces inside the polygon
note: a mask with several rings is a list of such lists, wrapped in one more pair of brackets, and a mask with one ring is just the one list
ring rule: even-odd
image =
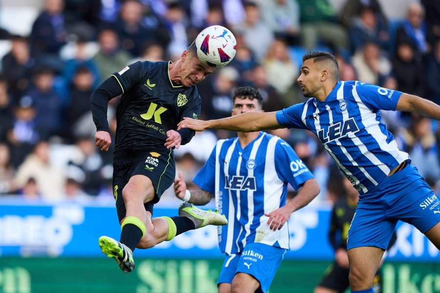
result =
[{"label": "black shorts of the mostly hidden player behind right player's legs", "polygon": [[[335,290],[338,293],[344,293],[350,286],[350,269],[342,268],[336,262],[333,262],[326,270],[324,278],[319,283],[319,287]],[[374,276],[373,288],[375,293],[382,292],[382,282],[380,272],[377,271]]]}]

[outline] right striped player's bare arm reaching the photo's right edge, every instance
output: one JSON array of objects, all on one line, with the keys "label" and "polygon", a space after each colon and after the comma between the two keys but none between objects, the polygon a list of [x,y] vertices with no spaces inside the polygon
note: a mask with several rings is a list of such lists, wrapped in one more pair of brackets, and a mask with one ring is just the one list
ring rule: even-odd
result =
[{"label": "right striped player's bare arm reaching the photo's right edge", "polygon": [[397,102],[396,110],[414,112],[427,118],[440,120],[440,106],[415,95],[403,93]]}]

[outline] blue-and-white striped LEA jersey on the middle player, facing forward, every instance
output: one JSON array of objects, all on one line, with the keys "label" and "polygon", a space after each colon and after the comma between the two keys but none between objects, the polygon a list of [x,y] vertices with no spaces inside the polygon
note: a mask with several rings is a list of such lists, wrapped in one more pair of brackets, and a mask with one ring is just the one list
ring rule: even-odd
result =
[{"label": "blue-and-white striped LEA jersey on the middle player, facing forward", "polygon": [[285,141],[262,131],[244,149],[238,138],[218,141],[194,183],[215,194],[217,209],[228,219],[218,228],[220,250],[233,254],[253,242],[288,249],[287,225],[271,231],[264,213],[286,204],[287,183],[298,189],[311,178]]}]

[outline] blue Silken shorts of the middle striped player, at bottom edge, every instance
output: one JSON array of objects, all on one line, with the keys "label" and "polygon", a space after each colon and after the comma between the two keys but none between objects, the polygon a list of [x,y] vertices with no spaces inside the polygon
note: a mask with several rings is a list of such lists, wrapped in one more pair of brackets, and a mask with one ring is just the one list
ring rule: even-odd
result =
[{"label": "blue Silken shorts of the middle striped player, at bottom edge", "polygon": [[239,254],[227,254],[219,275],[220,283],[232,283],[238,272],[252,275],[260,282],[261,292],[267,292],[283,260],[286,249],[263,243],[249,243]]}]

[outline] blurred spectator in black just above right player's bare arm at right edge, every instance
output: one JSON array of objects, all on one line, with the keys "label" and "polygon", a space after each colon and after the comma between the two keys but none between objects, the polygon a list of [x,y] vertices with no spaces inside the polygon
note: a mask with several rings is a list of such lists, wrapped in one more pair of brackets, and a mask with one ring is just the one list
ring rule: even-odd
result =
[{"label": "blurred spectator in black just above right player's bare arm at right edge", "polygon": [[411,42],[397,44],[393,60],[393,75],[399,91],[422,96],[424,94],[423,64]]}]

